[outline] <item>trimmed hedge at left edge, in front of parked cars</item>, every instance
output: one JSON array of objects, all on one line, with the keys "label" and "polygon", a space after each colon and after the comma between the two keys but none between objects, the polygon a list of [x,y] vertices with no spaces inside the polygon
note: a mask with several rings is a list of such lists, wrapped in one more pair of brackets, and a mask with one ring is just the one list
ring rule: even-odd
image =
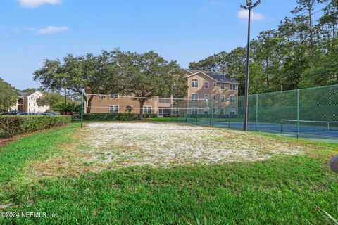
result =
[{"label": "trimmed hedge at left edge, in front of parked cars", "polygon": [[68,124],[71,121],[72,117],[63,115],[6,115],[0,116],[0,131],[13,137],[19,134],[27,134],[32,131],[61,126],[63,124]]}]

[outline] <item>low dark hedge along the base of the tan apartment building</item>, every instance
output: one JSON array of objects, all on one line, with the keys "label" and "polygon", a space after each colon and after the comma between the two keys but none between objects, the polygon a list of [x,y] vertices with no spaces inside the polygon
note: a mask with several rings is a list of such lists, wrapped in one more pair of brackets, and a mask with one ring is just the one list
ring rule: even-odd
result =
[{"label": "low dark hedge along the base of the tan apartment building", "polygon": [[[156,114],[144,114],[144,118],[155,118]],[[80,116],[77,116],[80,119]],[[86,113],[83,115],[83,120],[86,121],[128,121],[139,120],[139,114],[137,113]]]}]

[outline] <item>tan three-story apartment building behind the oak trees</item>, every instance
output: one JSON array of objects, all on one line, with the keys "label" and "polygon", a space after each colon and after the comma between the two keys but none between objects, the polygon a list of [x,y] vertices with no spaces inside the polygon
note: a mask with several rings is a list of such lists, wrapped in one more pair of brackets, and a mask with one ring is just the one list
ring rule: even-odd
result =
[{"label": "tan three-story apartment building behind the oak trees", "polygon": [[[175,97],[152,96],[144,103],[145,114],[165,115],[237,114],[238,83],[227,79],[218,72],[201,70],[182,70],[187,78],[187,96]],[[132,94],[108,96],[87,93],[86,113],[139,113],[139,102]]]}]

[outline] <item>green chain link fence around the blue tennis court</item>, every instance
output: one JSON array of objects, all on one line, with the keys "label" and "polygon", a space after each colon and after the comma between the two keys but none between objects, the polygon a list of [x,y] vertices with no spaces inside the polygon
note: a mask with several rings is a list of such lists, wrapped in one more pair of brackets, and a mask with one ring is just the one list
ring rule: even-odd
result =
[{"label": "green chain link fence around the blue tennis court", "polygon": [[[173,104],[172,120],[243,129],[244,96]],[[338,85],[249,96],[249,131],[338,140]]]}]

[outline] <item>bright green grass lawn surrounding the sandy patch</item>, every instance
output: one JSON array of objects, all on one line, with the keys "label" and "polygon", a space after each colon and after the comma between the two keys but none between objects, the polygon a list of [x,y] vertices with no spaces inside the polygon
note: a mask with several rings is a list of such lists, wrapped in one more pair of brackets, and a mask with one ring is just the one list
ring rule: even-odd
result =
[{"label": "bright green grass lawn surrounding the sandy patch", "polygon": [[0,224],[330,224],[320,209],[338,217],[338,174],[327,165],[338,153],[335,144],[299,141],[309,154],[258,162],[30,179],[26,165],[79,143],[72,137],[78,127],[42,131],[0,148],[0,207],[11,205],[0,212],[58,214],[0,217]]}]

